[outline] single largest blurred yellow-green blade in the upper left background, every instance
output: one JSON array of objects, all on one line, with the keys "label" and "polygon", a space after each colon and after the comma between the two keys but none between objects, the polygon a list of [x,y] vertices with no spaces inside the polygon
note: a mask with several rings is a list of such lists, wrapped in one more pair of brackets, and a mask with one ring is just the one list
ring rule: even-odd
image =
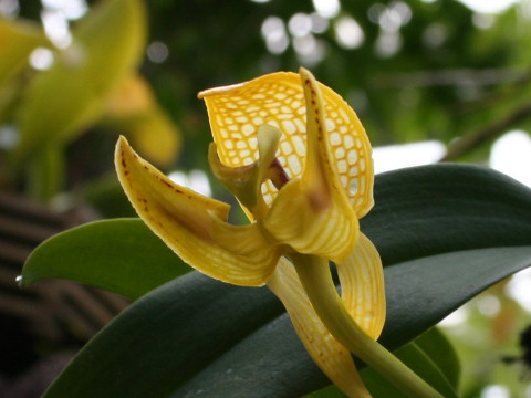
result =
[{"label": "single largest blurred yellow-green blade in the upper left background", "polygon": [[80,21],[72,45],[24,93],[15,166],[46,146],[70,142],[103,114],[105,98],[143,57],[145,17],[140,0],[108,0]]}]

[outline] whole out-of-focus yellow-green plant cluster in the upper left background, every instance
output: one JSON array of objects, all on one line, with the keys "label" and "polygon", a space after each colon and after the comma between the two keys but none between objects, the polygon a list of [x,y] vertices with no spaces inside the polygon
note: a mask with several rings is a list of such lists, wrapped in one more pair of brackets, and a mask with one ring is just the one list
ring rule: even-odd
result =
[{"label": "whole out-of-focus yellow-green plant cluster in the upper left background", "polygon": [[[132,135],[156,161],[175,158],[180,133],[137,75],[146,33],[142,0],[94,7],[72,29],[72,43],[61,49],[37,23],[0,20],[0,43],[7,43],[0,50],[0,127],[10,125],[17,135],[8,145],[0,185],[17,186],[27,172],[27,193],[53,198],[66,185],[66,146],[102,121],[115,134]],[[42,46],[53,62],[31,70],[28,57]]]}]

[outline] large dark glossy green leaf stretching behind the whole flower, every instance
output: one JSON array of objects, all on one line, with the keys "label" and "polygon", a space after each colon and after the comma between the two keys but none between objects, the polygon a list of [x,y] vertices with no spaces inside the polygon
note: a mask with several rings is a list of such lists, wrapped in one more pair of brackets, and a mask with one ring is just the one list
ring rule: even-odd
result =
[{"label": "large dark glossy green leaf stretching behind the whole flower", "polygon": [[[388,172],[376,177],[375,202],[362,229],[386,265],[381,341],[389,349],[531,264],[531,191],[492,170],[437,165]],[[46,397],[282,398],[329,383],[268,290],[191,272],[118,315]]]}]

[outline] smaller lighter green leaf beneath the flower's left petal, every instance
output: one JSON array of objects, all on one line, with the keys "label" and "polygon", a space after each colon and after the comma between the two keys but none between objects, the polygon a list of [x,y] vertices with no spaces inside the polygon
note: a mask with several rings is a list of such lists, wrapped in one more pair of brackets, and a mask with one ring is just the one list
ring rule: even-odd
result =
[{"label": "smaller lighter green leaf beneath the flower's left petal", "polygon": [[22,283],[62,277],[137,298],[190,270],[143,221],[119,219],[50,238],[28,258]]}]

